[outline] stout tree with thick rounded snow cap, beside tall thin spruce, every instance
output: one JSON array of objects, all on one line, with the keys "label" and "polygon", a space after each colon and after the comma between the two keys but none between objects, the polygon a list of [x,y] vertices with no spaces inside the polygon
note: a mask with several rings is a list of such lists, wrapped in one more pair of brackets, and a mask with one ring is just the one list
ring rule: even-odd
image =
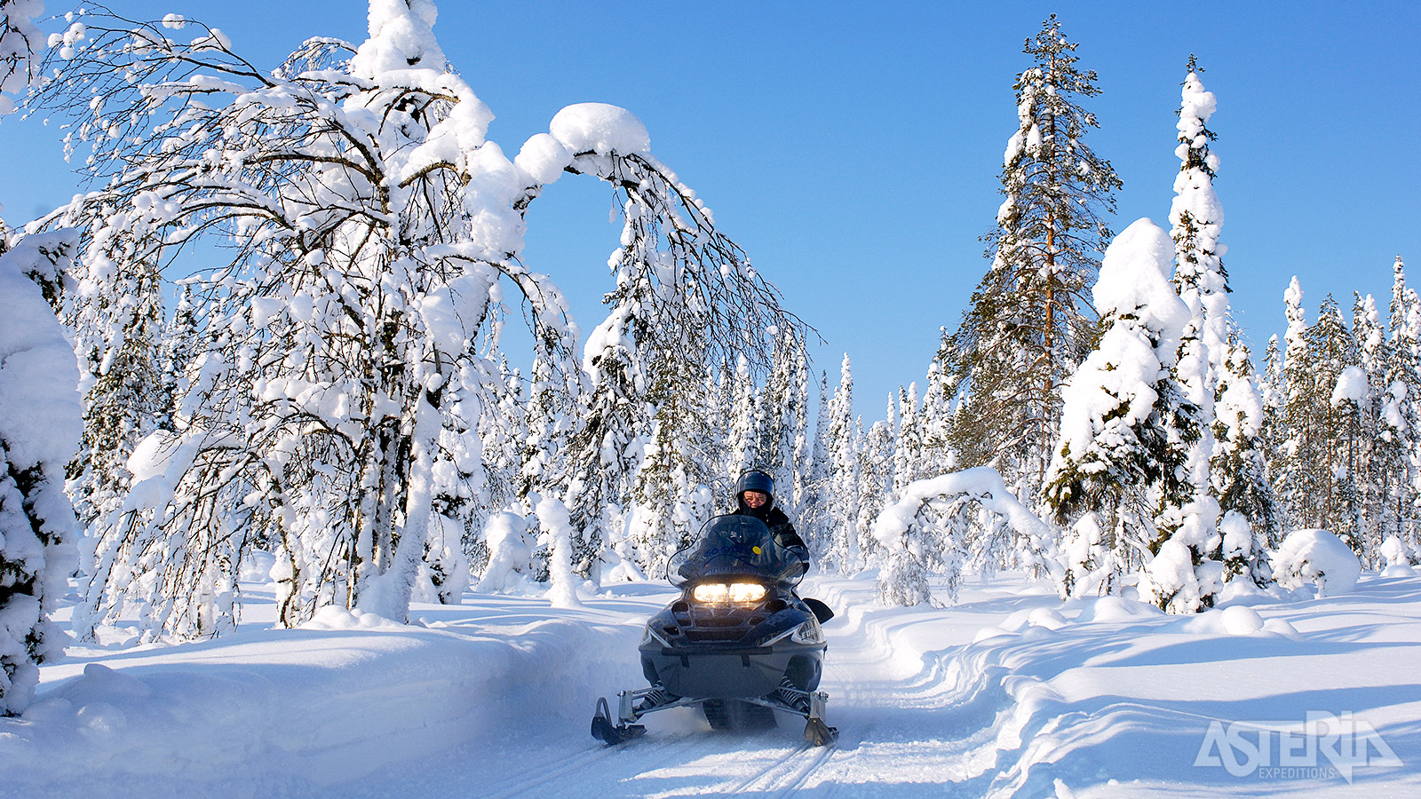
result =
[{"label": "stout tree with thick rounded snow cap, beside tall thin spruce", "polygon": [[[1069,576],[1071,590],[1087,583],[1101,593],[1118,590],[1120,574],[1160,546],[1155,496],[1178,493],[1187,479],[1174,422],[1188,402],[1171,374],[1189,310],[1165,276],[1172,254],[1165,232],[1141,219],[1111,242],[1093,290],[1103,333],[1063,390],[1044,500],[1057,522],[1100,515],[1110,562]],[[1171,552],[1177,547],[1185,549],[1175,542]],[[1178,576],[1162,606],[1189,590],[1192,572]]]}]

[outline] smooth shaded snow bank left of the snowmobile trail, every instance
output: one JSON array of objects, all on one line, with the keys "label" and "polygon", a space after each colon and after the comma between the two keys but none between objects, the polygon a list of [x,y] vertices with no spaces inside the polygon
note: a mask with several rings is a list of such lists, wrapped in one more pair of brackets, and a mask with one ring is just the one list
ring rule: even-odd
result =
[{"label": "smooth shaded snow bank left of the snowmobile trail", "polygon": [[325,608],[300,630],[71,650],[23,718],[0,718],[0,795],[423,796],[411,769],[530,728],[580,739],[595,697],[639,677],[621,614],[465,601],[416,606],[423,624]]}]

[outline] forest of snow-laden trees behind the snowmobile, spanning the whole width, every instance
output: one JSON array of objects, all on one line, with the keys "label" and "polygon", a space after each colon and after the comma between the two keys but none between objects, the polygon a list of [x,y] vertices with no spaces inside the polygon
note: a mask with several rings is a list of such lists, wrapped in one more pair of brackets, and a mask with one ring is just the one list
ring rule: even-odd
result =
[{"label": "forest of snow-laden trees behind the snowmobile, spanning the whole width", "polygon": [[[65,121],[90,181],[0,226],[0,712],[54,654],[68,579],[88,638],[220,634],[253,553],[284,626],[470,586],[576,603],[658,577],[747,468],[818,569],[877,569],[885,601],[1027,569],[1189,613],[1286,579],[1270,553],[1303,529],[1367,567],[1415,557],[1421,297],[1398,257],[1385,314],[1326,297],[1309,323],[1295,280],[1286,334],[1249,351],[1192,58],[1169,229],[1117,236],[1121,181],[1084,141],[1097,77],[1056,17],[1027,40],[990,264],[865,422],[850,357],[837,382],[811,368],[813,328],[631,112],[564,108],[510,159],[433,4],[369,6],[365,43],[271,68],[175,14],[45,36],[40,3],[0,0],[0,112]],[[622,222],[583,340],[520,260],[568,175]]]}]

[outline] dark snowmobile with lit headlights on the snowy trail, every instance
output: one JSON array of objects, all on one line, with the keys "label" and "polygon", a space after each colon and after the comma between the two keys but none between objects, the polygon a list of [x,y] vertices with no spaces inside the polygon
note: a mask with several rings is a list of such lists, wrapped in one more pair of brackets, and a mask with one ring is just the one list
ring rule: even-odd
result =
[{"label": "dark snowmobile with lit headlights on the snowy trail", "polygon": [[774,543],[753,516],[716,516],[699,540],[672,556],[666,579],[681,596],[647,621],[641,670],[651,684],[617,694],[612,719],[597,699],[593,736],[614,745],[647,732],[637,721],[699,705],[712,729],[760,729],[774,711],[804,717],[804,739],[838,736],[824,721],[828,695],[816,691],[824,668],[820,624],[834,613],[794,593],[809,560]]}]

